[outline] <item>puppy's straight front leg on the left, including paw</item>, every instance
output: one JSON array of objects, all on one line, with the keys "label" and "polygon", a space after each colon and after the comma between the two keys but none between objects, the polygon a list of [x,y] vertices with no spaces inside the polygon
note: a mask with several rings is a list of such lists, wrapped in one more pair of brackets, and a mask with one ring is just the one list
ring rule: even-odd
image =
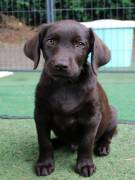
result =
[{"label": "puppy's straight front leg on the left, including paw", "polygon": [[50,116],[42,108],[35,108],[35,122],[39,143],[39,158],[35,166],[38,176],[47,176],[54,171],[53,147],[50,141]]}]

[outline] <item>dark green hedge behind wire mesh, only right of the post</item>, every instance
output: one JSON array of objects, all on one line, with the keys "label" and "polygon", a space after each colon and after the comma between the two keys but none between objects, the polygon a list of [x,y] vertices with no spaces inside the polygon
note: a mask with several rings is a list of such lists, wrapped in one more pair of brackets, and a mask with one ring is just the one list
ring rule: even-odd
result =
[{"label": "dark green hedge behind wire mesh, only right of the post", "polygon": [[135,19],[133,0],[56,0],[55,20]]}]

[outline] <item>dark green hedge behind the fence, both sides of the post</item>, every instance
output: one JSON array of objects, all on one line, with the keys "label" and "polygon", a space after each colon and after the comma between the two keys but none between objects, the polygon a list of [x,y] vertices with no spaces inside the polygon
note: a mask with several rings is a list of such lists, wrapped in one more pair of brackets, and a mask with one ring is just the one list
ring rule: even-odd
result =
[{"label": "dark green hedge behind the fence, both sides of the post", "polygon": [[[1,0],[0,11],[27,24],[46,22],[46,0]],[[135,19],[134,0],[54,0],[54,19]]]}]

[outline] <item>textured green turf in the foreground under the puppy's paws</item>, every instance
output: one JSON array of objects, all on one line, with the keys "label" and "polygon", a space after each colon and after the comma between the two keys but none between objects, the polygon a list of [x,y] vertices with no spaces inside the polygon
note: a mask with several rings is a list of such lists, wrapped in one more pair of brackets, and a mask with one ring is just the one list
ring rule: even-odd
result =
[{"label": "textured green turf in the foreground under the puppy's paws", "polygon": [[[130,132],[130,133],[129,133]],[[111,145],[111,154],[94,157],[97,172],[91,180],[135,179],[135,126],[119,125]],[[36,177],[33,166],[38,155],[35,125],[32,120],[0,120],[1,180],[77,180],[82,178],[73,169],[76,153],[67,149],[55,151],[55,172]]]}]

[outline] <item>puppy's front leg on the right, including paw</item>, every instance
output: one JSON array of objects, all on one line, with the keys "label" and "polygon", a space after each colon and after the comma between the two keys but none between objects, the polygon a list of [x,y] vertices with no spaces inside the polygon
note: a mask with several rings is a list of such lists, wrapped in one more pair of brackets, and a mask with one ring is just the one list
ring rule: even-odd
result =
[{"label": "puppy's front leg on the right, including paw", "polygon": [[77,163],[75,166],[75,172],[79,173],[81,176],[88,177],[96,171],[92,154],[99,122],[100,114],[96,113],[88,123],[83,124],[82,128],[84,134],[79,145]]}]

